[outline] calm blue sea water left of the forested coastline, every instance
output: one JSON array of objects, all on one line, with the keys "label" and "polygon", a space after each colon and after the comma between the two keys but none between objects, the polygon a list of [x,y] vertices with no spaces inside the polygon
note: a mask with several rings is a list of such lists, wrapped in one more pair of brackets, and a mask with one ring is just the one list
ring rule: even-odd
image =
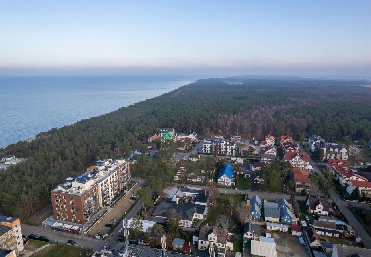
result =
[{"label": "calm blue sea water left of the forested coastline", "polygon": [[173,80],[198,78],[200,76],[173,75],[0,77],[0,147],[190,83]]}]

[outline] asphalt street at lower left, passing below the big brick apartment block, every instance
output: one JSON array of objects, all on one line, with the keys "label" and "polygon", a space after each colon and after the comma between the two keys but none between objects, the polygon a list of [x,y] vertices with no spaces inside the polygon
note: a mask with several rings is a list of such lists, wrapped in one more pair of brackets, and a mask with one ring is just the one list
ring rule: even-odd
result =
[{"label": "asphalt street at lower left, passing below the big brick apartment block", "polygon": [[85,237],[82,235],[74,235],[65,232],[53,231],[51,227],[47,226],[45,228],[33,227],[26,224],[21,224],[22,235],[36,234],[39,237],[44,235],[50,240],[59,241],[67,243],[68,240],[73,240],[77,245],[83,245],[85,247],[90,247],[96,250],[100,250],[104,245],[105,241],[98,240],[91,237]]}]

